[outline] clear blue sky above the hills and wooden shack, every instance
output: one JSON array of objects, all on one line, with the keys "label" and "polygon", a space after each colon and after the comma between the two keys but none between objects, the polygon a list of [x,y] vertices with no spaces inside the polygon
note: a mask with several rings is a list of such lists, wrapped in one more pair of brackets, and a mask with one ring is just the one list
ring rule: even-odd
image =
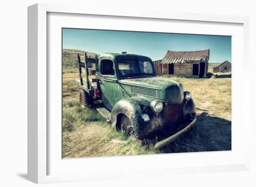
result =
[{"label": "clear blue sky above the hills and wooden shack", "polygon": [[63,49],[127,52],[162,59],[169,51],[210,49],[210,63],[231,62],[231,37],[215,35],[63,29]]}]

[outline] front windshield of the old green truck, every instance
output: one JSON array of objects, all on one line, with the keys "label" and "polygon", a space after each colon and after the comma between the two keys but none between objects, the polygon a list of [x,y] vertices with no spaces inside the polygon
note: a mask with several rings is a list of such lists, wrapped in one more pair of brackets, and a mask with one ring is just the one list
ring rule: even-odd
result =
[{"label": "front windshield of the old green truck", "polygon": [[142,60],[121,60],[118,69],[123,76],[152,75],[154,67],[151,62]]}]

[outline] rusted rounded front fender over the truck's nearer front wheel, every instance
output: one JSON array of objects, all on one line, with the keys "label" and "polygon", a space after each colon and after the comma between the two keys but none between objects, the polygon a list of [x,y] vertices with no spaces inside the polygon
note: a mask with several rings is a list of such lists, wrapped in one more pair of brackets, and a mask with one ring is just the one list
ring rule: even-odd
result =
[{"label": "rusted rounded front fender over the truck's nearer front wheel", "polygon": [[120,129],[122,115],[126,115],[131,121],[135,135],[143,139],[163,126],[161,115],[151,110],[150,102],[153,99],[146,97],[124,98],[117,102],[111,111],[111,122],[114,129]]}]

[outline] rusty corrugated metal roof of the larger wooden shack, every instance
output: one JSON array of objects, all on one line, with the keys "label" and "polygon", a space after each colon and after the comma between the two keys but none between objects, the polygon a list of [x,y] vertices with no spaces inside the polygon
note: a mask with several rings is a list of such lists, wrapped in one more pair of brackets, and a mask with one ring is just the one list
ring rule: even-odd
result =
[{"label": "rusty corrugated metal roof of the larger wooden shack", "polygon": [[192,51],[192,52],[174,52],[168,51],[164,58],[162,59],[163,64],[170,63],[184,63],[184,61],[195,61],[195,60],[208,60],[209,59],[209,49],[202,51]]}]

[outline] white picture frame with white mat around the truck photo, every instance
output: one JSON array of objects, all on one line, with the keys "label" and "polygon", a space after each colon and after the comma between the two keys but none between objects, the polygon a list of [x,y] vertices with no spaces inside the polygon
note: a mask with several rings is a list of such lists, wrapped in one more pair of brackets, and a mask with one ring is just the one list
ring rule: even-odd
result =
[{"label": "white picture frame with white mat around the truck photo", "polygon": [[[64,16],[67,13],[68,16],[79,15],[83,19],[82,15],[90,15],[90,17],[101,15],[116,17],[122,21],[138,19],[140,22],[145,19],[151,21],[175,20],[176,22],[183,21],[184,24],[208,24],[210,23],[226,25],[239,25],[237,32],[237,42],[241,44],[243,48],[242,54],[236,54],[238,48],[232,46],[232,61],[240,59],[243,61],[243,68],[241,71],[244,75],[249,71],[249,18],[242,16],[227,16],[227,15],[212,15],[212,14],[195,14],[195,13],[173,13],[164,11],[152,11],[141,10],[139,12],[130,12],[129,10],[117,10],[111,8],[97,8],[97,9],[84,9],[83,6],[74,5],[54,5],[54,4],[36,4],[28,7],[28,180],[35,183],[52,183],[52,182],[65,182],[65,181],[87,181],[87,180],[99,180],[99,179],[115,179],[127,177],[122,168],[120,167],[124,161],[135,161],[140,163],[140,167],[126,168],[132,171],[129,177],[141,176],[161,176],[166,174],[191,174],[191,173],[203,173],[203,172],[222,172],[222,171],[238,171],[249,169],[249,113],[245,109],[250,108],[249,102],[242,102],[242,107],[235,107],[239,103],[236,102],[238,96],[248,101],[248,97],[245,96],[245,90],[238,89],[236,84],[239,84],[239,80],[236,79],[236,68],[232,67],[232,151],[226,152],[207,152],[207,153],[186,153],[186,154],[164,154],[164,155],[145,155],[145,156],[120,156],[120,157],[105,157],[105,158],[82,158],[82,159],[68,159],[60,160],[61,153],[54,152],[51,147],[54,147],[58,142],[52,144],[50,138],[53,131],[49,132],[51,127],[47,126],[50,123],[49,120],[54,117],[49,113],[48,106],[49,97],[51,97],[51,90],[54,85],[57,84],[49,78],[51,77],[51,64],[47,62],[51,61],[52,54],[47,51],[47,43],[50,43],[47,38],[47,32],[49,28],[47,25],[49,19],[47,14],[60,13]],[[57,15],[58,16],[60,16]],[[111,17],[111,18],[112,18]],[[60,18],[55,18],[60,19]],[[73,18],[74,19],[74,18]],[[54,21],[54,18],[51,19]],[[199,23],[200,22],[200,23]],[[61,21],[60,21],[61,23]],[[56,23],[57,25],[57,23]],[[74,24],[75,25],[75,24]],[[119,25],[121,26],[121,25]],[[64,27],[64,26],[63,26]],[[101,28],[103,29],[104,26]],[[94,28],[93,24],[90,28]],[[123,28],[125,29],[125,28]],[[115,30],[115,29],[113,29]],[[122,29],[121,29],[122,30]],[[234,29],[236,30],[236,29]],[[142,30],[140,30],[142,31]],[[51,32],[51,31],[50,31]],[[166,31],[168,32],[168,31]],[[173,30],[173,32],[179,32]],[[229,31],[225,31],[225,33]],[[231,31],[230,31],[231,32]],[[190,33],[190,32],[189,32]],[[196,32],[199,34],[210,34],[210,32]],[[217,33],[217,31],[216,31]],[[224,31],[223,31],[224,33]],[[241,34],[242,33],[242,34]],[[52,39],[52,38],[51,38]],[[233,40],[234,41],[234,40]],[[232,41],[232,42],[233,42]],[[54,42],[57,45],[60,45]],[[57,46],[56,45],[56,46]],[[57,46],[58,47],[58,46]],[[240,49],[240,48],[239,48]],[[59,49],[61,52],[61,48]],[[57,49],[58,51],[58,49]],[[235,54],[234,54],[235,53]],[[60,53],[61,54],[61,53]],[[58,55],[60,55],[58,54]],[[233,56],[235,55],[235,58]],[[236,56],[237,55],[237,56]],[[234,66],[236,63],[234,63]],[[233,62],[232,62],[233,66]],[[50,69],[49,69],[50,68]],[[55,67],[58,69],[58,67]],[[60,78],[60,77],[59,77]],[[233,80],[236,80],[234,81]],[[249,77],[248,77],[249,78]],[[58,78],[56,78],[58,79]],[[55,79],[54,79],[55,80]],[[243,79],[243,87],[249,91],[249,81],[246,81],[246,76]],[[234,91],[235,90],[235,91]],[[58,92],[56,92],[58,93]],[[47,98],[48,97],[48,98]],[[242,100],[242,101],[243,101]],[[52,101],[52,100],[51,100]],[[57,106],[57,105],[56,105]],[[61,106],[59,106],[61,107]],[[233,110],[234,109],[234,110]],[[242,112],[242,113],[241,113]],[[243,126],[237,126],[237,129],[233,129],[233,123],[242,122]],[[235,126],[236,127],[236,126]],[[243,138],[243,142],[238,142],[234,139],[233,135],[240,133]],[[58,138],[57,138],[58,139]],[[60,141],[60,140],[59,140]],[[234,145],[235,144],[235,145]],[[237,148],[236,144],[239,144]],[[244,145],[244,146],[242,146]],[[61,148],[61,144],[59,145]],[[235,146],[235,147],[234,147]],[[55,148],[55,147],[54,147]],[[60,154],[60,155],[58,155]],[[187,158],[195,160],[195,164],[188,165]],[[196,161],[196,157],[205,158],[201,159],[202,162]],[[161,159],[160,159],[161,158]],[[215,158],[215,162],[209,162],[210,158]],[[54,160],[56,159],[56,160]],[[59,159],[59,160],[58,160]],[[153,164],[147,165],[146,161],[153,161]],[[165,164],[167,160],[175,161],[179,165]],[[182,161],[183,159],[183,161]],[[229,162],[227,160],[229,159]],[[158,161],[158,163],[155,163]],[[115,163],[115,164],[113,164]],[[154,164],[155,163],[155,164]],[[80,167],[83,166],[87,167]],[[70,172],[61,172],[61,165],[65,165],[65,168],[76,167],[74,174]],[[162,165],[162,167],[160,167]],[[95,168],[100,167],[101,170]],[[54,172],[49,168],[55,169]],[[155,171],[155,172],[152,172]],[[116,176],[115,174],[119,175]]]}]

